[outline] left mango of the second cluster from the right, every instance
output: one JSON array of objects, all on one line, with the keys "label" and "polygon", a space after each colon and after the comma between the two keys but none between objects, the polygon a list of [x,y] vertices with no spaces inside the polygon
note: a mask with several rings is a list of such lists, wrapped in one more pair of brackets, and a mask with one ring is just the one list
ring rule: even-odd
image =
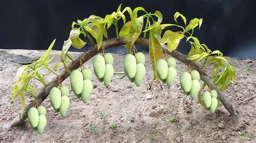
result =
[{"label": "left mango of the second cluster from the right", "polygon": [[184,92],[190,92],[192,87],[192,78],[190,73],[187,73],[186,71],[181,73],[179,76],[180,80],[180,87]]}]

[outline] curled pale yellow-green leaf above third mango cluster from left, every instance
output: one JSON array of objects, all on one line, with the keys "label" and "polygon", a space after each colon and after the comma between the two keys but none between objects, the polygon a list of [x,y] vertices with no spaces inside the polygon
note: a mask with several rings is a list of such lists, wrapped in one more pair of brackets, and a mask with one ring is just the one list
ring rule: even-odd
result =
[{"label": "curled pale yellow-green leaf above third mango cluster from left", "polygon": [[81,49],[85,46],[86,42],[79,38],[80,30],[72,29],[69,34],[69,39],[72,41],[72,46]]}]

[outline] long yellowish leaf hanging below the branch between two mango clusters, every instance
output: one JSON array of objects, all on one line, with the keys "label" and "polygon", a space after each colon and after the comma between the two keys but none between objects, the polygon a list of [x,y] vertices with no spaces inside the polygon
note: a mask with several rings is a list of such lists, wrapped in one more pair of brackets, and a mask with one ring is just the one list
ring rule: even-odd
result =
[{"label": "long yellowish leaf hanging below the branch between two mango clusters", "polygon": [[156,78],[157,80],[160,80],[160,78],[157,76],[156,62],[159,59],[164,58],[163,49],[160,45],[160,42],[156,39],[156,37],[154,37],[152,31],[150,31],[149,54],[150,54],[152,70],[154,73],[154,78]]}]

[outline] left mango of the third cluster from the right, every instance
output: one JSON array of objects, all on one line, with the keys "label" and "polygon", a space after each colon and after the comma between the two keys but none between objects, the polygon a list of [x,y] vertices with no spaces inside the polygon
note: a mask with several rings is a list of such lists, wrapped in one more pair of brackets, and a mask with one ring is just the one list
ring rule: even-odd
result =
[{"label": "left mango of the third cluster from the right", "polygon": [[165,80],[168,75],[168,63],[164,59],[159,59],[156,63],[157,76]]}]

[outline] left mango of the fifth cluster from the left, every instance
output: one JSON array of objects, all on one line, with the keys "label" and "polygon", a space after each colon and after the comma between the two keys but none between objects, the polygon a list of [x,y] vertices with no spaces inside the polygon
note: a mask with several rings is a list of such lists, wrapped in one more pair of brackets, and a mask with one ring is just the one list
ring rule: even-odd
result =
[{"label": "left mango of the fifth cluster from the left", "polygon": [[137,61],[134,55],[127,54],[124,57],[124,71],[129,78],[133,78],[136,74]]}]

